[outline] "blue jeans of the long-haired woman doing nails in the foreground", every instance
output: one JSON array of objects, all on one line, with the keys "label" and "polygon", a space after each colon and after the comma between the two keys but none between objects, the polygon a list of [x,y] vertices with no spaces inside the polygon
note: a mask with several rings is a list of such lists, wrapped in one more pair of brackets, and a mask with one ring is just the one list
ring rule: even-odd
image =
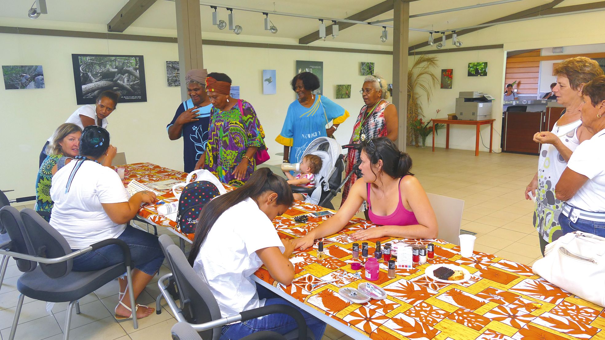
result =
[{"label": "blue jeans of the long-haired woman doing nails in the foreground", "polygon": [[[258,283],[257,292],[259,299],[267,299],[265,301],[265,306],[269,306],[270,304],[287,304],[289,306],[295,307],[302,313],[302,316],[307,322],[307,327],[309,327],[309,329],[313,332],[313,335],[315,335],[315,339],[321,340],[321,338],[324,336],[325,322],[319,320],[318,318],[315,318],[315,316],[311,316],[304,310],[299,309],[292,303],[289,303],[288,301],[284,300],[284,298],[278,297],[278,295]],[[237,340],[243,338],[246,335],[260,332],[262,330],[271,330],[273,332],[284,335],[296,328],[296,322],[289,315],[270,314],[267,316],[263,316],[262,318],[250,319],[247,321],[238,322],[237,324],[223,326],[223,332],[221,333],[220,340]]]}]

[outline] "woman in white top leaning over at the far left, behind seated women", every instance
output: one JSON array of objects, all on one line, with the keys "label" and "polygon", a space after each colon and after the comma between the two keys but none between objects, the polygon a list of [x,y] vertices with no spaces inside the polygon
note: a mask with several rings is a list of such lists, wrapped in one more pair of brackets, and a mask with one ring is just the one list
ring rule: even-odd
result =
[{"label": "woman in white top leaning over at the far left, behind seated women", "polygon": [[[116,109],[119,97],[120,96],[116,92],[103,91],[99,94],[99,97],[97,97],[96,105],[88,104],[78,107],[78,109],[67,118],[65,123],[76,124],[80,129],[84,129],[89,125],[98,125],[103,129],[106,129],[108,124],[107,117]],[[46,156],[48,156],[46,149],[51,141],[53,141],[53,136],[50,136],[46,141],[46,144],[44,144],[42,152],[40,152],[40,164],[38,166],[41,166]]]}]

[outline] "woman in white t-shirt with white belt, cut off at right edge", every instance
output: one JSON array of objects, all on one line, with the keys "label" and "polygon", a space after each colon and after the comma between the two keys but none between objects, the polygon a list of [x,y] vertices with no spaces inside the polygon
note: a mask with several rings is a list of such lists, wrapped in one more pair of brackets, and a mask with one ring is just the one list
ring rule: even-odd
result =
[{"label": "woman in white t-shirt with white belt, cut off at right edge", "polygon": [[559,223],[563,234],[605,237],[605,75],[584,85],[582,94],[582,126],[594,136],[575,149],[557,183],[557,198],[566,201]]}]

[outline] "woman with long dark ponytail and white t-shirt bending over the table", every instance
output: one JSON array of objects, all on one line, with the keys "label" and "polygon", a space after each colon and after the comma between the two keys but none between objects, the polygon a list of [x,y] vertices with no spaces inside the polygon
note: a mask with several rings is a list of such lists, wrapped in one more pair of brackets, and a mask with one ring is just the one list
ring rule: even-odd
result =
[{"label": "woman with long dark ponytail and white t-shirt bending over the table", "polygon": [[[201,211],[189,263],[207,281],[223,317],[270,304],[293,306],[250,278],[264,264],[276,281],[292,283],[294,268],[288,257],[293,244],[280,239],[271,221],[293,200],[283,178],[260,168],[246,184],[213,199]],[[315,339],[321,339],[325,323],[301,313]],[[261,330],[286,334],[295,328],[292,317],[271,314],[224,326],[220,339],[241,339]]]}]

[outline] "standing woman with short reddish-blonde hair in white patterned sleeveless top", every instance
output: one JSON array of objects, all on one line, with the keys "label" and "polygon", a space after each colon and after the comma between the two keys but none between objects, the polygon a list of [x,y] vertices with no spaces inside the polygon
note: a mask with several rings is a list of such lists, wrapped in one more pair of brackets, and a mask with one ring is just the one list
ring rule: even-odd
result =
[{"label": "standing woman with short reddish-blonde hair in white patterned sleeveless top", "polygon": [[565,109],[551,131],[535,133],[534,141],[542,144],[538,172],[525,188],[525,199],[531,199],[530,193],[535,197],[534,226],[542,254],[548,243],[562,235],[558,220],[563,202],[557,199],[555,186],[575,148],[593,135],[580,120],[582,90],[590,80],[603,75],[603,70],[595,60],[574,57],[563,60],[555,68],[555,74],[557,85],[552,92]]}]

